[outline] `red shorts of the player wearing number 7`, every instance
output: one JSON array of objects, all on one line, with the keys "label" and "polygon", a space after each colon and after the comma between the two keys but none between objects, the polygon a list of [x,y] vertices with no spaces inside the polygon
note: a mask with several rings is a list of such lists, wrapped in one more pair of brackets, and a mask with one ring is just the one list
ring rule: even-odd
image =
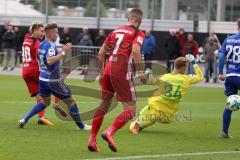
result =
[{"label": "red shorts of the player wearing number 7", "polygon": [[132,80],[127,80],[126,76],[113,76],[104,74],[101,79],[102,99],[109,100],[116,93],[120,102],[136,101],[136,92]]}]

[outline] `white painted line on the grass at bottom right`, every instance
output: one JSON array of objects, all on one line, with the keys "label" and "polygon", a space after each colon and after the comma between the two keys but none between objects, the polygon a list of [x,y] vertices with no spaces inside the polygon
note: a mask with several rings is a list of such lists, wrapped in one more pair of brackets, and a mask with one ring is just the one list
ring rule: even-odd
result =
[{"label": "white painted line on the grass at bottom right", "polygon": [[108,157],[85,160],[128,160],[140,158],[160,158],[160,157],[182,157],[182,156],[201,156],[201,155],[216,155],[216,154],[231,154],[240,153],[240,151],[219,151],[219,152],[195,152],[195,153],[173,153],[173,154],[157,154],[157,155],[142,155],[142,156],[127,156],[127,157]]}]

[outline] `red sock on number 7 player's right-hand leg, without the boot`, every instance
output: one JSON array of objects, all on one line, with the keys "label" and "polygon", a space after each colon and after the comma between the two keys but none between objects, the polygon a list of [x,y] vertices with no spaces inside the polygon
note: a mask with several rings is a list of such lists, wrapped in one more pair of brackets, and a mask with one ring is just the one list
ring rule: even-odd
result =
[{"label": "red sock on number 7 player's right-hand leg, without the boot", "polygon": [[117,130],[122,128],[135,115],[135,109],[129,108],[120,113],[114,120],[113,124],[107,129],[110,134],[114,134]]}]

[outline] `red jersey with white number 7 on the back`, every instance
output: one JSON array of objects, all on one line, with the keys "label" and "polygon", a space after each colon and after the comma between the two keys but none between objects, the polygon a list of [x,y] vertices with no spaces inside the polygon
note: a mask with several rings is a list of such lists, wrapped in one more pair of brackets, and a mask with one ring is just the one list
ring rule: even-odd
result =
[{"label": "red jersey with white number 7 on the back", "polygon": [[141,47],[143,40],[144,32],[134,26],[122,26],[112,31],[104,41],[105,49],[110,53],[104,74],[127,76],[132,63],[132,45]]}]

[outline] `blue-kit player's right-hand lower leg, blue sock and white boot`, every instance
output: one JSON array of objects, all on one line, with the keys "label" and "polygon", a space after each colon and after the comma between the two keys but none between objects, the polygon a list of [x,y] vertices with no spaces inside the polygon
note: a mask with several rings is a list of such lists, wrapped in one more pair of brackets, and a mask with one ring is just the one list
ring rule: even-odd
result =
[{"label": "blue-kit player's right-hand lower leg, blue sock and white boot", "polygon": [[68,99],[64,99],[62,101],[68,105],[69,114],[72,117],[72,119],[74,120],[74,122],[76,123],[76,125],[82,130],[91,130],[91,126],[84,124],[81,121],[78,107],[77,107],[77,104],[74,101],[74,99],[68,98]]}]

